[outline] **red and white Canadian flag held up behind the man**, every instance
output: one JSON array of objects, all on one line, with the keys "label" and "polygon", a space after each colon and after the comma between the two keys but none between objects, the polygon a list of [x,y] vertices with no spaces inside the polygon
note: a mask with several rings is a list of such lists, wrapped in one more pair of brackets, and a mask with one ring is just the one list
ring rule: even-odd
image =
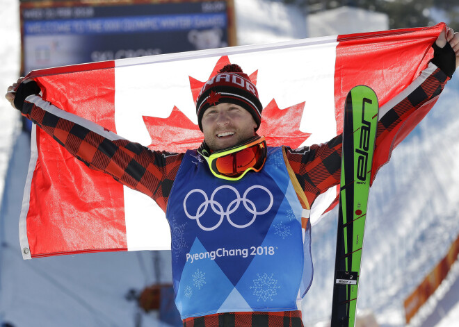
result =
[{"label": "red and white Canadian flag held up behind the man", "polygon": [[[195,115],[200,88],[220,67],[237,63],[257,85],[264,106],[259,134],[267,136],[268,145],[296,148],[327,142],[341,132],[344,99],[355,85],[376,91],[384,115],[389,101],[428,66],[430,46],[442,28],[94,62],[41,69],[28,77],[45,87],[43,99],[65,112],[150,149],[178,152],[202,142]],[[373,178],[431,106],[381,144]],[[89,169],[40,128],[33,128],[31,149],[19,219],[24,258],[170,249],[174,230],[150,197]],[[336,189],[319,196],[313,222],[336,196]]]}]

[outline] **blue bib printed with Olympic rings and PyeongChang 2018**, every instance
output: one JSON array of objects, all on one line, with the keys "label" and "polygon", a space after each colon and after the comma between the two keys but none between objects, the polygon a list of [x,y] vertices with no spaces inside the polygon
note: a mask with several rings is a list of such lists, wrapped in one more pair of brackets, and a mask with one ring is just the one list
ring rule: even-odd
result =
[{"label": "blue bib printed with Olympic rings and PyeongChang 2018", "polygon": [[263,169],[240,181],[214,177],[196,151],[186,152],[166,210],[182,319],[298,310],[312,261],[309,234],[303,243],[303,208],[282,151],[268,148]]}]

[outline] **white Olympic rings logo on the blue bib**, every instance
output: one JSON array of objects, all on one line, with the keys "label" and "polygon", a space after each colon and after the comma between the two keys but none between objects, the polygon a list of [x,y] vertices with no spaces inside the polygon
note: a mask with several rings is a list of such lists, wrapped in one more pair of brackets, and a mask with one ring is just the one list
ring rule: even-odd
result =
[{"label": "white Olympic rings logo on the blue bib", "polygon": [[[220,191],[220,190],[223,190],[223,189],[229,189],[229,190],[232,190],[234,192],[234,194],[236,194],[236,199],[234,199],[233,201],[230,202],[230,204],[228,204],[227,208],[224,209],[223,206],[218,202],[218,201],[215,201],[214,200],[214,196],[215,194]],[[255,203],[253,203],[253,201],[251,201],[250,199],[248,199],[247,195],[248,193],[251,191],[251,190],[255,190],[255,189],[260,189],[260,190],[264,190],[264,192],[266,192],[268,194],[268,197],[269,197],[269,205],[268,207],[263,210],[263,211],[257,211],[257,207],[255,206]],[[190,196],[191,194],[194,194],[194,193],[200,193],[202,194],[202,196],[204,196],[204,202],[202,202],[200,204],[200,206],[198,207],[198,210],[196,210],[196,213],[195,215],[191,215],[189,212],[188,212],[188,209],[186,208],[186,200],[188,199],[188,196]],[[218,228],[218,226],[220,226],[220,224],[222,224],[223,222],[223,219],[228,219],[228,222],[236,227],[236,228],[245,228],[245,227],[248,227],[250,225],[253,224],[253,222],[255,221],[255,219],[257,219],[257,216],[258,215],[264,215],[266,214],[266,212],[268,212],[269,210],[271,210],[271,207],[273,206],[273,194],[264,186],[261,186],[261,185],[253,185],[253,186],[250,186],[247,190],[245,190],[243,196],[241,197],[241,195],[239,194],[239,191],[236,190],[236,188],[230,186],[230,185],[222,185],[222,186],[219,186],[217,187],[214,192],[211,194],[211,197],[210,199],[207,197],[207,194],[206,192],[204,192],[203,190],[200,190],[198,188],[194,189],[194,190],[191,190],[190,192],[188,192],[188,194],[186,194],[185,196],[185,199],[184,199],[184,210],[185,210],[185,215],[186,217],[188,217],[189,219],[193,219],[196,221],[196,223],[198,224],[198,226],[202,229],[202,230],[214,230],[216,228]],[[238,208],[239,206],[241,205],[241,202],[243,203],[244,207],[246,210],[248,210],[248,212],[250,212],[253,216],[252,216],[252,219],[247,223],[247,224],[243,224],[243,225],[239,225],[239,224],[236,224],[234,223],[234,221],[231,220],[231,217],[230,215],[232,213],[234,213]],[[209,208],[209,205],[210,205],[210,208],[212,211],[214,211],[217,215],[220,215],[220,219],[218,220],[218,222],[214,225],[214,226],[211,226],[211,227],[206,227],[206,226],[203,226],[200,222],[200,218],[207,212],[207,209]]]}]

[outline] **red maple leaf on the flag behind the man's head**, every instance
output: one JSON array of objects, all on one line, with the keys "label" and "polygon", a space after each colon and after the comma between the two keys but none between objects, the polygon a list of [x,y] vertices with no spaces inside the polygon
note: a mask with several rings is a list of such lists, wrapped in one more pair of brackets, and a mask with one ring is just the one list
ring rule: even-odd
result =
[{"label": "red maple leaf on the flag behind the man's head", "polygon": [[[229,58],[221,57],[208,79],[215,76],[227,64],[230,64]],[[257,85],[257,74],[258,71],[255,71],[249,76],[255,85]],[[202,82],[191,76],[188,77],[193,101],[196,103],[202,86],[207,80]],[[215,94],[215,97],[218,97],[218,94]],[[269,146],[288,145],[293,149],[298,148],[310,135],[300,131],[304,107],[303,102],[280,109],[273,99],[262,112],[261,125],[257,133],[265,135]],[[152,143],[148,146],[152,150],[185,152],[187,149],[197,149],[204,140],[204,135],[198,125],[188,119],[176,106],[167,118],[143,116],[143,121],[152,138]]]}]

